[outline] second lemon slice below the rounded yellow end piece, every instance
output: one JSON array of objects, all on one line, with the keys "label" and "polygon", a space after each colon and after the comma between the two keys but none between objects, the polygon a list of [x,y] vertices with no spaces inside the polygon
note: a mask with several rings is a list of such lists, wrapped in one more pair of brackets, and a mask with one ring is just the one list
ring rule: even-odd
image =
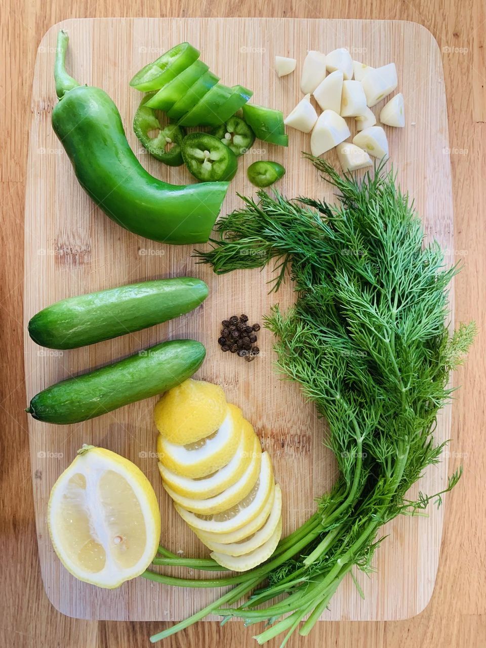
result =
[{"label": "second lemon slice below the rounded yellow end piece", "polygon": [[[238,481],[248,468],[253,458],[253,442],[255,438],[257,437],[253,431],[253,427],[248,421],[244,421],[240,445],[238,445],[237,451],[226,466],[216,470],[216,472],[213,472],[213,474],[207,477],[199,480],[191,480],[189,477],[177,475],[159,461],[159,472],[162,480],[172,491],[184,497],[191,497],[194,500],[205,500],[209,497],[214,497],[214,495],[218,495]],[[262,447],[259,443],[257,453],[261,454],[261,452]]]}]

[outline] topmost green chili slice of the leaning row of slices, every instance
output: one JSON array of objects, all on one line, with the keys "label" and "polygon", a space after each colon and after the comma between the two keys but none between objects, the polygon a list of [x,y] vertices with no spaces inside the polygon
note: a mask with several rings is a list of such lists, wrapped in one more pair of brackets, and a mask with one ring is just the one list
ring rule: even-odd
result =
[{"label": "topmost green chili slice of the leaning row of slices", "polygon": [[189,43],[179,43],[139,70],[130,80],[130,86],[141,92],[158,90],[198,60],[199,55],[200,52]]}]

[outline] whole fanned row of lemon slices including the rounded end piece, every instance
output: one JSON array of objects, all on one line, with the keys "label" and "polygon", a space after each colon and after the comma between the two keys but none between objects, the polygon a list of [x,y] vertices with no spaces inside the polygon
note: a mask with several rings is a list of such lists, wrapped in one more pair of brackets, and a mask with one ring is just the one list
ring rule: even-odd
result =
[{"label": "whole fanned row of lemon slices including the rounded end piece", "polygon": [[154,419],[163,486],[214,561],[245,572],[270,558],[282,494],[242,411],[219,386],[189,379],[163,395]]}]

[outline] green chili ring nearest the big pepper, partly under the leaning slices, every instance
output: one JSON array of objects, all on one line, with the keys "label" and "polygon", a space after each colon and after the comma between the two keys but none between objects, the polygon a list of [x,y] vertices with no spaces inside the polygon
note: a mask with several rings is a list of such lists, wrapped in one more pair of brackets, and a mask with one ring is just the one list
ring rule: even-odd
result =
[{"label": "green chili ring nearest the big pepper, partly under the leaning slices", "polygon": [[[177,124],[161,126],[153,108],[146,105],[152,95],[146,95],[133,118],[133,130],[142,145],[151,156],[157,158],[168,167],[180,167],[184,163],[181,154],[181,141],[185,135]],[[149,132],[158,131],[155,137],[150,137]]]}]

